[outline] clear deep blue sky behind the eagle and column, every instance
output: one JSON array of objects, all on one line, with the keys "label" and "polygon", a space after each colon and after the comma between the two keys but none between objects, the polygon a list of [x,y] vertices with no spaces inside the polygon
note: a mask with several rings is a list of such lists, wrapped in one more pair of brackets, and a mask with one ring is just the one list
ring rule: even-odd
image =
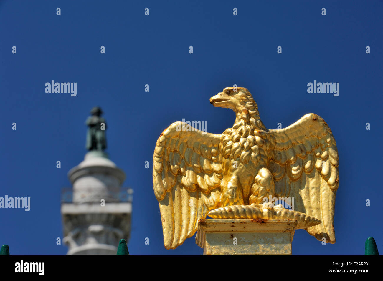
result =
[{"label": "clear deep blue sky behind the eagle and column", "polygon": [[[337,142],[337,242],[322,245],[297,230],[293,253],[363,254],[369,236],[383,250],[382,10],[381,1],[1,1],[0,197],[31,197],[31,210],[0,209],[0,244],[12,254],[67,252],[56,245],[61,189],[83,160],[84,122],[99,105],[108,123],[106,151],[126,172],[123,186],[134,189],[129,252],[202,253],[194,237],[164,248],[154,146],[183,118],[206,120],[211,133],[231,127],[234,112],[209,98],[237,84],[252,93],[267,128],[312,112]],[[51,80],[76,82],[77,96],[45,93]],[[309,94],[314,80],[339,83],[339,96]]]}]

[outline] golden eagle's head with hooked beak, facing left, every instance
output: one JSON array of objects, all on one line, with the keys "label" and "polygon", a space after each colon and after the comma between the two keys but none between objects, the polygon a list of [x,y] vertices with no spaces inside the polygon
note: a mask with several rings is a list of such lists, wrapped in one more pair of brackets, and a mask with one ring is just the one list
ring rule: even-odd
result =
[{"label": "golden eagle's head with hooked beak, facing left", "polygon": [[230,108],[234,112],[239,112],[249,101],[254,102],[249,91],[243,87],[226,87],[221,93],[210,98],[213,106]]}]

